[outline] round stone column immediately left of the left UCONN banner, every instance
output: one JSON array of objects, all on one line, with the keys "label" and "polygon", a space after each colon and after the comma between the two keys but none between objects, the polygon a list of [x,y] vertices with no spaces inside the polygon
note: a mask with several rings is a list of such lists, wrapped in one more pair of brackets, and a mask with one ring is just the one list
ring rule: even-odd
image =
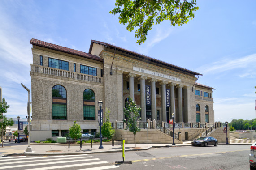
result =
[{"label": "round stone column immediately left of the left UCONN banner", "polygon": [[140,115],[141,115],[141,121],[146,122],[146,93],[145,93],[145,80],[148,78],[146,76],[140,76]]}]

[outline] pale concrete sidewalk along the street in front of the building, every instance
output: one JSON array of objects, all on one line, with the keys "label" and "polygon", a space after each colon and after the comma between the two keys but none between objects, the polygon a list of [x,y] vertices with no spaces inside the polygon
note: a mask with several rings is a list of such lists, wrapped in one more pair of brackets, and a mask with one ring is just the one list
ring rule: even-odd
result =
[{"label": "pale concrete sidewalk along the street in front of the building", "polygon": [[[111,152],[122,152],[122,148],[120,143],[112,146],[112,144],[102,144],[103,149],[99,149],[100,143],[93,143],[92,148],[89,145],[82,145],[82,149],[80,150],[80,144],[70,144],[70,148],[68,148],[68,144],[48,144],[48,143],[31,143],[32,153],[26,152],[26,148],[28,147],[27,142],[14,143],[14,142],[5,142],[4,147],[0,147],[0,157],[4,155],[73,155],[73,154],[90,154],[90,153],[111,153]],[[226,145],[224,143],[218,145]],[[231,143],[229,145],[252,145],[248,143]],[[1,146],[1,145],[0,145]],[[191,141],[183,142],[183,144],[126,144],[126,152],[127,151],[138,151],[138,150],[148,150],[151,148],[157,147],[185,147],[191,146]]]}]

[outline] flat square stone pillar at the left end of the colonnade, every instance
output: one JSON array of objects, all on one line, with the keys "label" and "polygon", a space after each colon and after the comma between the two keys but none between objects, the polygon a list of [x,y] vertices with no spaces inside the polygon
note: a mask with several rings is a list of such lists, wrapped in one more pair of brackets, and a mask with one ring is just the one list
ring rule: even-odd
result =
[{"label": "flat square stone pillar at the left end of the colonnade", "polygon": [[123,71],[117,70],[117,121],[125,118],[123,112]]}]

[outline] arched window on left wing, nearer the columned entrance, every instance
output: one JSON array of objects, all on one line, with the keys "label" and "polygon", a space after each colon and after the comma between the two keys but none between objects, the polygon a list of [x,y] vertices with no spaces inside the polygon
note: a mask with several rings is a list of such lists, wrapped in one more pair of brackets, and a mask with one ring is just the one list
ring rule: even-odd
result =
[{"label": "arched window on left wing, nearer the columned entrance", "polygon": [[83,119],[95,120],[95,94],[91,89],[83,91]]}]

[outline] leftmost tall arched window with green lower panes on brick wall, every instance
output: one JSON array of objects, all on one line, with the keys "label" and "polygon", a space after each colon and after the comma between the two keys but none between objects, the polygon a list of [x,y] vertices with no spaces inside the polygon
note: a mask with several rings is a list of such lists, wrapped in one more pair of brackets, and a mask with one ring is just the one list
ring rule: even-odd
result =
[{"label": "leftmost tall arched window with green lower panes on brick wall", "polygon": [[52,119],[67,119],[67,91],[61,85],[52,88]]}]

